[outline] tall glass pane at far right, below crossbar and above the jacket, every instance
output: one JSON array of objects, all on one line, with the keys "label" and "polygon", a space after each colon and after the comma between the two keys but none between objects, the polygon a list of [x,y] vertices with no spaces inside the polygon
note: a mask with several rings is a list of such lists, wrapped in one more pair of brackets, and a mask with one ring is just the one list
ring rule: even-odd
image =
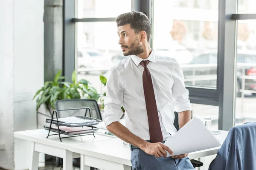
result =
[{"label": "tall glass pane at far right, below crossbar and above the jacket", "polygon": [[256,20],[239,20],[236,68],[236,125],[255,122]]}]

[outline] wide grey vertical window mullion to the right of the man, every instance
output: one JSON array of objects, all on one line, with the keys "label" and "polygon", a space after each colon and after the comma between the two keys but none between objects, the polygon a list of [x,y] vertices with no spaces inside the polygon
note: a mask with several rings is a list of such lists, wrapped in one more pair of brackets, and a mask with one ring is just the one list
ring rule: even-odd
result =
[{"label": "wide grey vertical window mullion to the right of the man", "polygon": [[236,88],[236,1],[219,0],[218,17],[218,96],[220,130],[234,125]]}]

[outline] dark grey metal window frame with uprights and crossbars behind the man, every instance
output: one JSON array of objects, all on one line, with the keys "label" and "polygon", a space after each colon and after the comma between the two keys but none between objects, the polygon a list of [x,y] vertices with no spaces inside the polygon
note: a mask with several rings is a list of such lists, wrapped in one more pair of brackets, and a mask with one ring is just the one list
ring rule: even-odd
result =
[{"label": "dark grey metal window frame with uprights and crossbars behind the man", "polygon": [[[77,67],[77,23],[113,22],[116,18],[77,18],[77,0],[64,0],[63,3],[63,74],[71,81]],[[132,0],[131,3],[132,11],[142,11],[151,20],[152,47],[154,0]],[[221,130],[229,130],[235,123],[237,22],[256,20],[256,14],[237,14],[237,4],[238,0],[218,1],[217,87],[186,86],[192,103],[219,106],[218,128]]]}]

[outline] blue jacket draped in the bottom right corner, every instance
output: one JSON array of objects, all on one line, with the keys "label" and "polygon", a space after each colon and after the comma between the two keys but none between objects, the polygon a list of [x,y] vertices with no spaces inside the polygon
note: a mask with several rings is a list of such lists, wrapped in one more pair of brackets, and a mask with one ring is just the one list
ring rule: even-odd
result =
[{"label": "blue jacket draped in the bottom right corner", "polygon": [[256,170],[256,122],[230,129],[209,170]]}]

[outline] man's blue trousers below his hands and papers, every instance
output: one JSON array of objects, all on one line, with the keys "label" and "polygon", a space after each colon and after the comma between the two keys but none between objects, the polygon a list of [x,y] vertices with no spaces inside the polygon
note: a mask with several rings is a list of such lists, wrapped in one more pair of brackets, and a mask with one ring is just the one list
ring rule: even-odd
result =
[{"label": "man's blue trousers below his hands and papers", "polygon": [[183,159],[157,158],[141,149],[131,150],[131,164],[132,170],[195,170],[188,157]]}]

